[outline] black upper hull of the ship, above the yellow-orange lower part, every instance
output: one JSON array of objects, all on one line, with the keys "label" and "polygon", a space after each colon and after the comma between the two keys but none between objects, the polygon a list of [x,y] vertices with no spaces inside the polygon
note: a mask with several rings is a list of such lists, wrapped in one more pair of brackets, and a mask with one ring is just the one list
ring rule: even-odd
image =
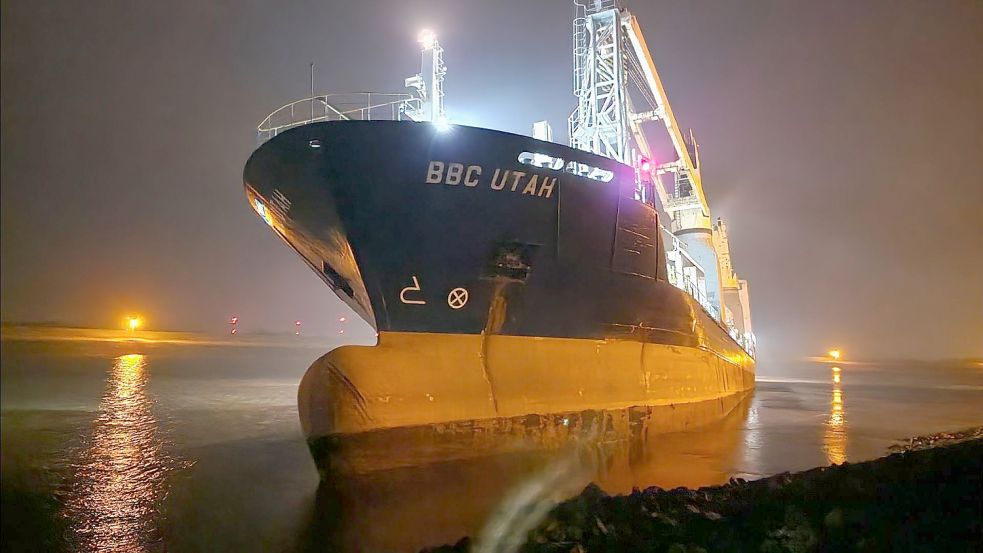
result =
[{"label": "black upper hull of the ship, above the yellow-orange lower part", "polygon": [[[614,179],[533,167],[521,152]],[[431,162],[444,166],[440,183],[427,182],[437,180]],[[496,171],[511,172],[501,189]],[[263,144],[244,182],[271,226],[379,332],[625,339],[753,366],[665,279],[659,214],[612,160],[485,129],[345,121]]]}]

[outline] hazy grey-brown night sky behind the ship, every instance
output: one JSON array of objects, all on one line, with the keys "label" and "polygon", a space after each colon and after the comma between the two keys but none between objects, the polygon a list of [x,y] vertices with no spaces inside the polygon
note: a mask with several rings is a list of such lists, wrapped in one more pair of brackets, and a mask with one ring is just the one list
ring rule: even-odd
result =
[{"label": "hazy grey-brown night sky behind the ship", "polygon": [[[452,120],[562,140],[574,105],[569,0],[0,5],[7,321],[334,332],[350,313],[241,185],[310,62],[319,91],[399,90],[429,27]],[[764,357],[983,355],[983,3],[628,6]]]}]

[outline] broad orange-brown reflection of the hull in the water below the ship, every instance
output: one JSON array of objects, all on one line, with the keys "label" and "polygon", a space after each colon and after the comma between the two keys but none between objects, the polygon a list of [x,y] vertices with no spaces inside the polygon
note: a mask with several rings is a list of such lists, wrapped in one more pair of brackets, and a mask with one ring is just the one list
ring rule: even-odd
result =
[{"label": "broad orange-brown reflection of the hull in the water below the ship", "polygon": [[[595,482],[609,493],[722,484],[752,396],[396,428],[332,440],[302,551],[416,551],[476,536],[504,551]],[[317,457],[317,455],[315,455]]]}]

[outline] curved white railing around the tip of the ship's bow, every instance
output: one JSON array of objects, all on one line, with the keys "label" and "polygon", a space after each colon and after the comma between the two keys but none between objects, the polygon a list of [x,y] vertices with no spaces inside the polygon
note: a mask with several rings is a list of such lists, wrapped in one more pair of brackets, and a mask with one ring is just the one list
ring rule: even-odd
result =
[{"label": "curved white railing around the tip of the ship's bow", "polygon": [[321,94],[290,102],[266,116],[256,126],[260,141],[281,132],[319,121],[411,120],[421,112],[421,100],[412,94],[349,92]]}]

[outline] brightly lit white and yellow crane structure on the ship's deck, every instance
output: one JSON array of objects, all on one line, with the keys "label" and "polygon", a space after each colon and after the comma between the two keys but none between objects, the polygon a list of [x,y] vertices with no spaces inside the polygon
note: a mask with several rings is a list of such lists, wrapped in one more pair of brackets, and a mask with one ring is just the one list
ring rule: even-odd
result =
[{"label": "brightly lit white and yellow crane structure on the ship's deck", "polygon": [[[747,282],[737,279],[731,268],[726,227],[711,218],[699,148],[693,133],[687,137],[676,121],[637,19],[616,0],[574,3],[577,107],[568,121],[570,145],[633,166],[639,199],[653,200],[647,196],[655,189],[669,218],[665,242],[672,250],[667,252],[670,280],[742,340],[753,341]],[[662,123],[676,159],[653,162],[645,132],[651,122]],[[664,179],[671,179],[671,188]]]}]

